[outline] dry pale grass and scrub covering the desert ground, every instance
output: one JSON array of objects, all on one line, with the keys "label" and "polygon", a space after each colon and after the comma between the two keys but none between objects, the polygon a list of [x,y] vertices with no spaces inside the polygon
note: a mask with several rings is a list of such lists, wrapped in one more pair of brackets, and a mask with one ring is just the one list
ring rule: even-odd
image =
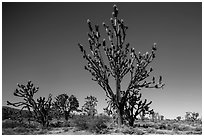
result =
[{"label": "dry pale grass and scrub covering the desert ground", "polygon": [[192,135],[202,134],[202,122],[186,121],[137,121],[134,127],[122,126],[117,128],[113,121],[106,117],[87,116],[73,117],[69,121],[53,120],[48,129],[42,129],[37,123],[32,121],[18,122],[13,120],[2,121],[3,135],[31,135],[31,134],[59,134],[59,135],[91,135],[91,134],[111,134],[111,135]]}]

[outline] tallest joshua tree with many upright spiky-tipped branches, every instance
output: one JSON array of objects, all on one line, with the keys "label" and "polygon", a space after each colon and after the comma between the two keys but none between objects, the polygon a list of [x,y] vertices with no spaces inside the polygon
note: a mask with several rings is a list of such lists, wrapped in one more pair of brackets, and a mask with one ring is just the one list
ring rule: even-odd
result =
[{"label": "tallest joshua tree with many upright spiky-tipped branches", "polygon": [[[149,77],[153,69],[148,65],[155,58],[156,44],[154,43],[151,53],[141,55],[136,54],[134,48],[130,48],[130,44],[126,43],[126,31],[128,27],[124,24],[123,19],[118,18],[118,8],[113,6],[112,18],[110,18],[111,27],[103,23],[108,36],[107,40],[101,41],[99,25],[93,28],[90,20],[87,20],[89,33],[88,41],[91,54],[87,54],[84,46],[78,44],[83,58],[87,61],[85,69],[88,70],[96,81],[105,91],[106,96],[111,100],[113,106],[117,109],[118,126],[123,124],[125,113],[125,105],[128,101],[130,92],[138,92],[142,88],[161,88],[164,86],[162,77],[159,82],[155,82],[155,77],[152,81],[145,81]],[[125,44],[126,43],[126,44]],[[104,54],[102,54],[103,52]],[[107,57],[108,64],[105,63],[103,56]],[[121,82],[125,75],[130,74],[130,81],[125,91],[121,90]],[[110,86],[109,78],[112,76],[115,80],[116,91],[114,92]]]}]

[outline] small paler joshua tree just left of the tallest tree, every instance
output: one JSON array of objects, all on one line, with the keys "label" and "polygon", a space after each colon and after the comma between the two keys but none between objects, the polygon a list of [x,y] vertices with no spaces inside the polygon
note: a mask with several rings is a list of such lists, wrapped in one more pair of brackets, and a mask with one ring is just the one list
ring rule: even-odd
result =
[{"label": "small paler joshua tree just left of the tallest tree", "polygon": [[97,114],[97,98],[94,96],[87,96],[85,104],[82,106],[82,111],[86,112],[88,116],[94,116]]}]

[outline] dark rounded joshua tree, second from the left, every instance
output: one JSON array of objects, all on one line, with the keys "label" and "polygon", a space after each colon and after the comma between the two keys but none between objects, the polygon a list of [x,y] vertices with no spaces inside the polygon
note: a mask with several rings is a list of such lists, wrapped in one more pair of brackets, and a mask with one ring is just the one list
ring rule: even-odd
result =
[{"label": "dark rounded joshua tree, second from the left", "polygon": [[55,111],[64,114],[65,120],[68,120],[70,113],[77,111],[79,107],[79,101],[74,95],[69,97],[67,94],[60,94],[55,99],[56,101],[53,103],[53,107]]}]

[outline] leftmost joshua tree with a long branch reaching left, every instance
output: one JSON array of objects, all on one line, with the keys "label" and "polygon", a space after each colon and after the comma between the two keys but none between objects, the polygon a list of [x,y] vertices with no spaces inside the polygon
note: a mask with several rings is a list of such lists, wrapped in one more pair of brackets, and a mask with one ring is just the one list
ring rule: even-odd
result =
[{"label": "leftmost joshua tree with a long branch reaching left", "polygon": [[14,96],[23,98],[23,101],[16,103],[7,101],[7,105],[22,107],[20,112],[23,109],[27,109],[31,116],[33,116],[44,127],[47,127],[49,125],[49,112],[51,110],[52,95],[49,95],[47,101],[45,100],[45,97],[40,97],[37,101],[35,101],[33,96],[39,88],[34,87],[31,81],[28,81],[26,86],[20,84],[17,84],[17,86],[19,89],[14,91]]}]

